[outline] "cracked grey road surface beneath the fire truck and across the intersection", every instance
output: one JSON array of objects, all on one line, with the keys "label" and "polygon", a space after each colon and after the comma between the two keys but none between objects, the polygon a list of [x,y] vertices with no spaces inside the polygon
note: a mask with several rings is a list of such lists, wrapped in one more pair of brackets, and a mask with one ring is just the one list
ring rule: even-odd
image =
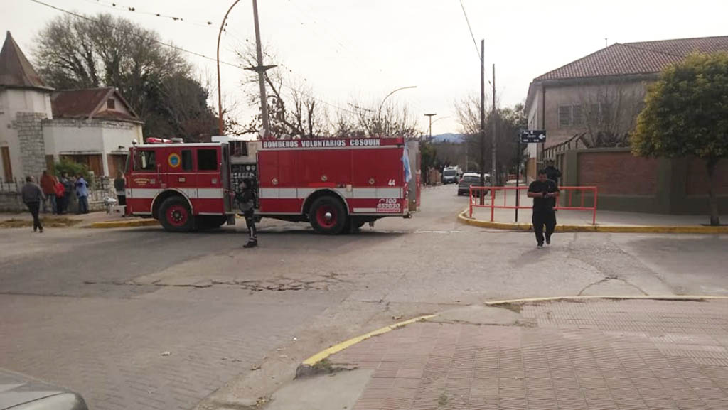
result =
[{"label": "cracked grey road surface beneath the fire truck and across the intersection", "polygon": [[556,234],[537,250],[530,233],[458,224],[466,205],[455,186],[427,189],[414,218],[338,237],[264,221],[254,250],[244,226],[4,229],[0,367],[79,390],[93,409],[191,409],[266,360],[295,368],[363,329],[452,305],[728,295],[726,236]]}]

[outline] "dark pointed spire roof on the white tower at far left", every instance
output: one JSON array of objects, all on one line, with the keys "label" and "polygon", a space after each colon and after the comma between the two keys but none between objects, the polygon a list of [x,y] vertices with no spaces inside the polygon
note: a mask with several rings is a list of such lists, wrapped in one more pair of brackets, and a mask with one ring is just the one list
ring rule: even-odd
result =
[{"label": "dark pointed spire roof on the white tower at far left", "polygon": [[25,58],[9,31],[0,51],[0,87],[52,90]]}]

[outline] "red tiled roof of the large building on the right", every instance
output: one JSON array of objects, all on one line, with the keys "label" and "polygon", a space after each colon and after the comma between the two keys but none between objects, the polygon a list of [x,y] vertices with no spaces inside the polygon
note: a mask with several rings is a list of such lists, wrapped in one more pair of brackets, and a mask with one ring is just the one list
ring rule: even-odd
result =
[{"label": "red tiled roof of the large building on the right", "polygon": [[728,36],[656,42],[615,43],[538,76],[535,81],[598,76],[653,74],[691,52],[728,52]]}]

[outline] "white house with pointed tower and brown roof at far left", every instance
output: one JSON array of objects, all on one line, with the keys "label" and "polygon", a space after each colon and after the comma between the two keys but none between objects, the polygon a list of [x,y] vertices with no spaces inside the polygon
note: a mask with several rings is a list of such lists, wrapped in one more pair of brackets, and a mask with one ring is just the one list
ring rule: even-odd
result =
[{"label": "white house with pointed tower and brown roof at far left", "polygon": [[143,122],[114,87],[53,90],[7,33],[0,51],[0,178],[40,176],[55,162],[86,164],[95,175],[122,170]]}]

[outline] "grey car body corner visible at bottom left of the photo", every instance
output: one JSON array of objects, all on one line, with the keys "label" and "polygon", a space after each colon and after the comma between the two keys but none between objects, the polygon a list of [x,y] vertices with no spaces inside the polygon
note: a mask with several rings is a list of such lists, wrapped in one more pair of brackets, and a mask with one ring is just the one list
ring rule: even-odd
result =
[{"label": "grey car body corner visible at bottom left of the photo", "polygon": [[0,369],[0,410],[88,410],[84,398],[63,387]]}]

